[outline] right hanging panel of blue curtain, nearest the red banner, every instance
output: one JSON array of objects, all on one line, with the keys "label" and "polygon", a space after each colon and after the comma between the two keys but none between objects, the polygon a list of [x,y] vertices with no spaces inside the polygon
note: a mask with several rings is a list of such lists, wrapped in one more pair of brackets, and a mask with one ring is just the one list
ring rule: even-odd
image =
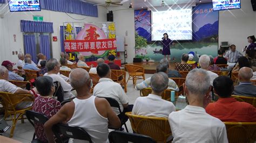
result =
[{"label": "right hanging panel of blue curtain, nearest the red banner", "polygon": [[40,37],[40,52],[46,56],[47,59],[51,58],[49,35],[39,35]]}]

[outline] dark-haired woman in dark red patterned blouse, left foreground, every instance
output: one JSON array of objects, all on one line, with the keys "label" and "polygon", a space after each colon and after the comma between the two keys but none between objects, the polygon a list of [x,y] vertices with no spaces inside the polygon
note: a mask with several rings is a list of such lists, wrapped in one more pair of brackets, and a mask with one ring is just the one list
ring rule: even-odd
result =
[{"label": "dark-haired woman in dark red patterned blouse, left foreground", "polygon": [[[50,76],[41,76],[36,78],[35,84],[41,96],[36,97],[32,110],[51,118],[61,107],[60,102],[52,98],[55,92],[53,80]],[[35,123],[35,133],[39,141],[47,142],[43,124]]]}]

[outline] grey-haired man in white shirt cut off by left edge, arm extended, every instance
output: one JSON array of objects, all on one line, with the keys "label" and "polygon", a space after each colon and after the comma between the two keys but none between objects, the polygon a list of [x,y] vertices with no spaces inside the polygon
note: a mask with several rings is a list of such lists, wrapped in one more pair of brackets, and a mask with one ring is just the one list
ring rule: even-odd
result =
[{"label": "grey-haired man in white shirt cut off by left edge, arm extended", "polygon": [[[32,94],[29,90],[24,90],[10,83],[8,80],[9,72],[4,66],[0,66],[0,91],[11,94]],[[18,103],[16,109],[25,109],[32,106],[33,102]]]}]

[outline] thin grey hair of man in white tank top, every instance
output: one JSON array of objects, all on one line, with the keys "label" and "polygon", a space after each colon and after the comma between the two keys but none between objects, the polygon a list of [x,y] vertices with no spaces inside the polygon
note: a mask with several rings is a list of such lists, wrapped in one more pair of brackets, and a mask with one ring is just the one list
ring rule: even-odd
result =
[{"label": "thin grey hair of man in white tank top", "polygon": [[83,68],[73,69],[69,75],[70,84],[74,89],[84,87],[89,78],[89,73]]}]

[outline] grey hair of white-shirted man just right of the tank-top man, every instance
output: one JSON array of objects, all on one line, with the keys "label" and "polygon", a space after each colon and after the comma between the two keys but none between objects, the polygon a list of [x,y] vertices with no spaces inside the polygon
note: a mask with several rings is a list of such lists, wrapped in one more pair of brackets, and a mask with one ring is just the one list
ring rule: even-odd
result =
[{"label": "grey hair of white-shirted man just right of the tank-top man", "polygon": [[150,86],[154,92],[160,93],[168,87],[169,78],[166,73],[159,72],[150,79]]}]

